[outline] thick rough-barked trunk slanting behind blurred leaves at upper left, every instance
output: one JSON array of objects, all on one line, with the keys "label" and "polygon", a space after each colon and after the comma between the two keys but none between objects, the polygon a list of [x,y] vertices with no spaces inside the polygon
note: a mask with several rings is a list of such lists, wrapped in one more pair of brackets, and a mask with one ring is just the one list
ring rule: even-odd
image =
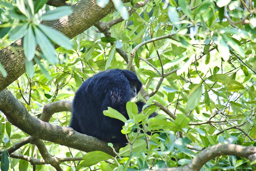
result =
[{"label": "thick rough-barked trunk slanting behind blurred leaves at upper left", "polygon": [[[129,0],[123,0],[123,2],[129,2]],[[69,38],[73,38],[113,12],[115,7],[112,1],[105,8],[100,8],[96,0],[81,0],[77,4],[72,5],[72,10],[73,13],[69,16],[42,23],[60,31]],[[7,72],[7,77],[5,78],[0,74],[0,91],[2,91],[26,71],[26,58],[21,39],[0,50],[0,62]]]}]

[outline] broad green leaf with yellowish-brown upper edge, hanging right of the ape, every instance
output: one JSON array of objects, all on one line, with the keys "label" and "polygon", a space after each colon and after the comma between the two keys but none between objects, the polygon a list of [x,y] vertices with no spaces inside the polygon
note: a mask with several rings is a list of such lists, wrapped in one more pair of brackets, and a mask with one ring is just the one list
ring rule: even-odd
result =
[{"label": "broad green leaf with yellowish-brown upper edge, hanging right of the ape", "polygon": [[189,92],[190,97],[188,98],[188,102],[187,102],[188,110],[195,109],[202,96],[202,91],[203,91],[202,84],[198,84],[194,88]]}]

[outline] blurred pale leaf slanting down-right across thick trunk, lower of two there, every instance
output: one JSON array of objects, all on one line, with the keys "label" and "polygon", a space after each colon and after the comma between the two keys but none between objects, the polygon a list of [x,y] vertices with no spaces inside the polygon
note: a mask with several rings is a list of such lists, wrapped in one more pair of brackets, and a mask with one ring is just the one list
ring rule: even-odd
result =
[{"label": "blurred pale leaf slanting down-right across thick trunk, lower of two there", "polygon": [[59,31],[52,29],[51,27],[45,26],[43,24],[39,24],[38,27],[54,43],[56,43],[60,46],[65,46],[66,49],[68,49],[68,50],[73,48],[73,43],[70,42],[69,38],[67,36],[63,35],[62,33],[60,33]]}]

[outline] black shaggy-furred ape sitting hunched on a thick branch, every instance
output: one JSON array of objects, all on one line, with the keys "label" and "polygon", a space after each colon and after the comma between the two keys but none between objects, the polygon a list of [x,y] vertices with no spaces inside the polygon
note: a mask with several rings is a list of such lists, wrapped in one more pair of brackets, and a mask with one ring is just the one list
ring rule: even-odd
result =
[{"label": "black shaggy-furred ape sitting hunched on a thick branch", "polygon": [[[128,119],[126,103],[136,97],[141,87],[137,75],[129,70],[111,69],[88,78],[76,91],[70,127],[101,140],[126,143],[125,135],[121,133],[124,123],[104,116],[103,111],[109,106]],[[140,113],[145,103],[138,101],[136,104]]]}]

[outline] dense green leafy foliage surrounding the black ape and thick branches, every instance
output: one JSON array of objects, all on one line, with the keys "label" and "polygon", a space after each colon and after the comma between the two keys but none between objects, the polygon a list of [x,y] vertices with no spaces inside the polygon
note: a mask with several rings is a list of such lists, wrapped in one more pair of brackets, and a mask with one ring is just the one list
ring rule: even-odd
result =
[{"label": "dense green leafy foliage surrounding the black ape and thick branches", "polygon": [[[152,0],[128,20],[113,25],[111,37],[90,28],[71,41],[39,24],[40,19],[69,15],[70,7],[53,9],[44,4],[46,1],[24,2],[0,2],[0,47],[24,35],[27,73],[8,89],[31,115],[38,118],[46,104],[72,100],[81,83],[95,73],[125,69],[127,65],[118,52],[120,49],[129,59],[134,57],[132,66],[149,93],[138,97],[147,100],[140,114],[135,103],[127,103],[129,120],[112,108],[104,112],[124,121],[120,131],[127,135],[129,142],[114,157],[104,152],[85,154],[45,142],[52,155],[84,156],[81,162],[63,162],[61,166],[66,170],[180,167],[190,163],[198,149],[218,143],[255,145],[255,1]],[[105,1],[97,2],[105,6]],[[130,8],[136,3],[133,0],[124,5]],[[123,4],[117,6],[119,11],[120,7]],[[107,23],[121,15],[126,19],[127,14],[113,12],[101,21]],[[150,41],[153,38],[157,41]],[[60,46],[56,51],[55,43]],[[1,64],[0,72],[6,75]],[[148,119],[154,111],[159,115]],[[69,112],[54,114],[50,123],[68,126],[70,116]],[[28,135],[11,125],[3,114],[0,119],[1,169],[8,170],[9,158],[12,167],[32,170],[27,161],[10,158],[5,150]],[[24,145],[19,154],[40,158],[31,144]],[[49,167],[38,165],[36,170],[49,170]],[[255,168],[248,159],[236,156],[217,157],[203,167],[203,170],[220,169]]]}]

